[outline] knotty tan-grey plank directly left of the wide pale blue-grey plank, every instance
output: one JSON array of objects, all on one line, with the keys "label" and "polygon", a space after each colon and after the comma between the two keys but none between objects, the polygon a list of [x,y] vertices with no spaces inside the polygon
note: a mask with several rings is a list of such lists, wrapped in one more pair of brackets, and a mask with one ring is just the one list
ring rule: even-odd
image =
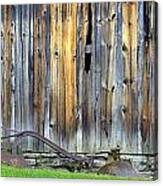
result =
[{"label": "knotty tan-grey plank directly left of the wide pale blue-grey plank", "polygon": [[[104,115],[101,116],[101,125],[103,133],[102,135],[107,135],[106,139],[106,148],[111,146],[112,138],[112,102],[113,102],[113,93],[115,90],[115,85],[113,83],[113,68],[115,63],[115,38],[116,38],[116,3],[109,3],[108,14],[106,14],[105,19],[102,23],[102,38],[103,42],[106,45],[106,59],[105,59],[105,68],[104,80],[102,80],[102,91],[105,92],[106,100],[104,102]],[[110,34],[108,34],[110,33]],[[115,70],[114,70],[115,71]],[[116,127],[116,125],[114,126]],[[102,140],[104,138],[102,137]],[[115,140],[115,139],[114,139]]]}]

